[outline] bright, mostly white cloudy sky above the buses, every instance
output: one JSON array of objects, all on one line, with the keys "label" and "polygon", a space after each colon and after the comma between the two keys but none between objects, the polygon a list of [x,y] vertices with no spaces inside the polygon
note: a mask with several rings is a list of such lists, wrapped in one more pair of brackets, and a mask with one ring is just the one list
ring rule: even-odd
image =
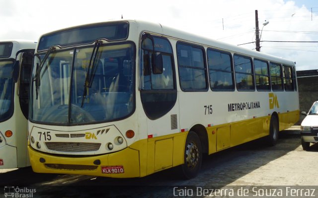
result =
[{"label": "bright, mostly white cloudy sky above the buses", "polygon": [[123,16],[255,50],[255,10],[261,52],[296,62],[297,71],[318,69],[318,0],[0,0],[0,40],[38,41],[50,31]]}]

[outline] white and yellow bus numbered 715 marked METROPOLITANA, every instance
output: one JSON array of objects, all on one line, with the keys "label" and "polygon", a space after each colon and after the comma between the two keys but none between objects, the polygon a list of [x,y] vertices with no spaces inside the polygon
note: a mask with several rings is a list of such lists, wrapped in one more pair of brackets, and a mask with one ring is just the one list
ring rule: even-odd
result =
[{"label": "white and yellow bus numbered 715 marked METROPOLITANA", "polygon": [[299,119],[295,64],[157,23],[44,34],[30,86],[38,173],[144,177],[267,136]]}]

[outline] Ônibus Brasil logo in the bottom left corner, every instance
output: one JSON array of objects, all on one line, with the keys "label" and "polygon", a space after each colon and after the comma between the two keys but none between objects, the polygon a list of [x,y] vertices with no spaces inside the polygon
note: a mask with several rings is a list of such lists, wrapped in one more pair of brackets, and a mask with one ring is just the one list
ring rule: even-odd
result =
[{"label": "\u00d4nibus Brasil logo in the bottom left corner", "polygon": [[26,187],[19,188],[13,186],[4,187],[5,198],[33,198],[34,193],[36,193],[36,189],[30,189]]}]

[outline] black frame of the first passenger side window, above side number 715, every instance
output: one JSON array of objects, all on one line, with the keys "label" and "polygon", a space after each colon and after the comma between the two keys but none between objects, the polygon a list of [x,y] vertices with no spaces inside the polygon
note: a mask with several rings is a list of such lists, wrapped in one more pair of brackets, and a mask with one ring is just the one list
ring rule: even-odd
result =
[{"label": "black frame of the first passenger side window, above side number 715", "polygon": [[[202,55],[203,55],[203,64],[204,64],[204,68],[199,68],[199,67],[194,67],[194,66],[180,66],[179,64],[179,56],[178,56],[178,51],[179,51],[179,45],[185,45],[191,48],[197,48],[197,49],[201,49],[202,50]],[[191,51],[192,52],[192,51]],[[192,55],[192,54],[191,54]],[[179,86],[180,89],[183,92],[207,92],[209,91],[209,77],[208,77],[208,66],[207,66],[207,56],[206,56],[206,51],[205,48],[201,45],[195,45],[195,44],[191,44],[191,43],[187,43],[187,42],[183,42],[183,41],[177,41],[176,42],[176,56],[177,56],[177,67],[178,67],[178,77],[179,77]],[[181,86],[181,81],[180,81],[180,71],[179,68],[190,68],[190,69],[199,69],[199,70],[203,70],[205,72],[205,89],[184,89]]]}]

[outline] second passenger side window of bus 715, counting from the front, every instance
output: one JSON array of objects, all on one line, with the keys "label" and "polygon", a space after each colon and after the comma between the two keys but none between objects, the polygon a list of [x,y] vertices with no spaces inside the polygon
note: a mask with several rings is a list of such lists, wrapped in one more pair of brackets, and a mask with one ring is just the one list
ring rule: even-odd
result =
[{"label": "second passenger side window of bus 715, counting from the front", "polygon": [[207,57],[211,89],[213,91],[234,91],[232,55],[208,49]]}]

